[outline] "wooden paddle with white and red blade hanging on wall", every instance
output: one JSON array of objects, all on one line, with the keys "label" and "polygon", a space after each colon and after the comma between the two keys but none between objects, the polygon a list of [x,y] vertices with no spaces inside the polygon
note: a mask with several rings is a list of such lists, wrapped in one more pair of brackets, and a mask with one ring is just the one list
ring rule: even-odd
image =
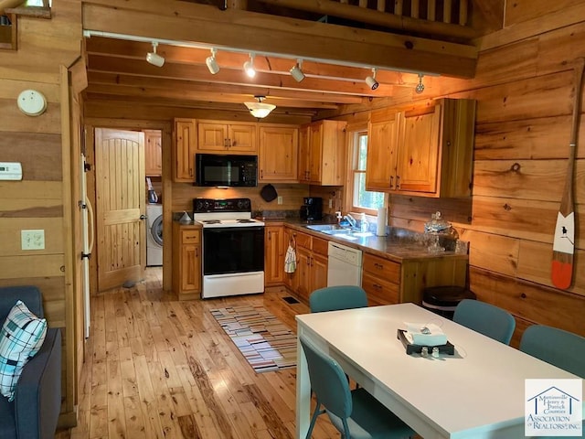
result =
[{"label": "wooden paddle with white and red blade hanging on wall", "polygon": [[558,288],[569,288],[573,277],[573,253],[575,252],[575,207],[573,203],[573,174],[575,150],[579,137],[581,80],[585,59],[575,59],[575,94],[573,96],[573,121],[569,145],[569,169],[565,180],[563,198],[558,209],[557,226],[553,241],[551,279]]}]

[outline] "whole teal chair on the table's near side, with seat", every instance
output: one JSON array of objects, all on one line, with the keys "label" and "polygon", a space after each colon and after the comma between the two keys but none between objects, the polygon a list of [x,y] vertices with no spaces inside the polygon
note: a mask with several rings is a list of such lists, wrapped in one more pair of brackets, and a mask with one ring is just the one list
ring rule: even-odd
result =
[{"label": "whole teal chair on the table's near side, with seat", "polygon": [[306,337],[301,336],[300,341],[317,400],[306,439],[311,438],[314,423],[323,413],[327,413],[345,439],[399,439],[415,434],[365,389],[350,391],[344,371],[335,359]]}]

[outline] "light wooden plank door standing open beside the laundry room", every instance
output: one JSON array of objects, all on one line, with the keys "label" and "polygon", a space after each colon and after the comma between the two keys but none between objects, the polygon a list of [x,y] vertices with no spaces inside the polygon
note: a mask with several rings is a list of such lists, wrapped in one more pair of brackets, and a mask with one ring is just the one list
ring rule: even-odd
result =
[{"label": "light wooden plank door standing open beside the laundry room", "polygon": [[144,133],[95,129],[98,290],[144,278]]}]

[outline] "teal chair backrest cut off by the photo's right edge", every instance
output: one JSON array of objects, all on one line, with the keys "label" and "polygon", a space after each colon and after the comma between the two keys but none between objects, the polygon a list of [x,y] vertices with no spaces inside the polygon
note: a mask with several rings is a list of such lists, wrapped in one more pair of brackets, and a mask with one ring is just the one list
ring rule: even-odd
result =
[{"label": "teal chair backrest cut off by the photo's right edge", "polygon": [[585,337],[556,327],[527,327],[520,350],[585,378]]}]

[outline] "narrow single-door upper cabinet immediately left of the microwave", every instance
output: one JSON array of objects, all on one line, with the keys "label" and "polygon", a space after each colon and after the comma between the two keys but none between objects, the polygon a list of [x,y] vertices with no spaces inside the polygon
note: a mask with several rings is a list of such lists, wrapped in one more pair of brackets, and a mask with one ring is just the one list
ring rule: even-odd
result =
[{"label": "narrow single-door upper cabinet immediately left of the microwave", "polygon": [[176,182],[193,183],[195,181],[196,126],[195,119],[175,119],[173,179]]}]

